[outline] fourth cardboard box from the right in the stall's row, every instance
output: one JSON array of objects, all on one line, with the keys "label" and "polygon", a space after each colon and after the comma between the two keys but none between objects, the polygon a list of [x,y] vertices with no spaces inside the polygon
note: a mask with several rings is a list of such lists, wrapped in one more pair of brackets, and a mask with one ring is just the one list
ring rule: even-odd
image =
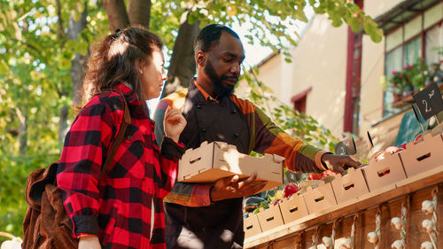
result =
[{"label": "fourth cardboard box from the right in the stall's row", "polygon": [[305,198],[309,214],[315,214],[325,208],[337,205],[332,185],[323,181],[319,182],[318,187],[315,189],[308,186],[307,192],[303,194],[303,197]]}]

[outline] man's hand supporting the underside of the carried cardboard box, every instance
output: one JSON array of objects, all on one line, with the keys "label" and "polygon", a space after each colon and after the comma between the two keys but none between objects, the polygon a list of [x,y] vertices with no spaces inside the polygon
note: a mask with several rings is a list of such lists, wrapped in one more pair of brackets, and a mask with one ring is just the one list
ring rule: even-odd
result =
[{"label": "man's hand supporting the underside of the carried cardboard box", "polygon": [[238,180],[238,175],[233,175],[221,178],[214,183],[210,195],[213,201],[218,201],[226,198],[240,198],[250,196],[260,191],[266,182],[254,182],[257,178],[257,173],[249,176],[245,180]]}]

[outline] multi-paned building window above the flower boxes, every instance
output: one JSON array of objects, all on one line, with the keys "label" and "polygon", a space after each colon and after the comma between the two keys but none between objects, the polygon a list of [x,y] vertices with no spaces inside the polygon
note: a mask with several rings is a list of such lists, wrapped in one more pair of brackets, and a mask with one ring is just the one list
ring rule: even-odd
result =
[{"label": "multi-paned building window above the flower boxes", "polygon": [[[424,59],[428,66],[440,64],[443,59],[443,3],[433,4],[427,10],[417,12],[415,17],[401,21],[398,27],[385,36],[385,76],[399,72],[405,66]],[[393,94],[386,90],[384,116],[401,111],[392,106]]]}]

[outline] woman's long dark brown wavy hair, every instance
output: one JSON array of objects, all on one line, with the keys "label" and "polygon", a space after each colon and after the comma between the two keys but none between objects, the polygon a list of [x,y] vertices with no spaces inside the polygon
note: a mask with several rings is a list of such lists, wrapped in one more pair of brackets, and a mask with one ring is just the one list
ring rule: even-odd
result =
[{"label": "woman's long dark brown wavy hair", "polygon": [[162,47],[159,36],[143,27],[128,27],[107,35],[89,57],[81,93],[82,105],[122,82],[134,89],[139,100],[144,100],[138,66],[146,63],[152,51],[161,51]]}]

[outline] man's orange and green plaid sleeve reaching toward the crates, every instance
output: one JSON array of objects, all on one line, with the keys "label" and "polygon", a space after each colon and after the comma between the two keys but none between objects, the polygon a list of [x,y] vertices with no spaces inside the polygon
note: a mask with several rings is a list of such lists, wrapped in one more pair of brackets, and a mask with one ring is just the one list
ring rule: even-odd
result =
[{"label": "man's orange and green plaid sleeve reaching toward the crates", "polygon": [[237,97],[232,99],[249,122],[253,151],[284,157],[284,167],[292,171],[319,173],[324,170],[321,158],[325,152],[285,133],[253,103]]}]

